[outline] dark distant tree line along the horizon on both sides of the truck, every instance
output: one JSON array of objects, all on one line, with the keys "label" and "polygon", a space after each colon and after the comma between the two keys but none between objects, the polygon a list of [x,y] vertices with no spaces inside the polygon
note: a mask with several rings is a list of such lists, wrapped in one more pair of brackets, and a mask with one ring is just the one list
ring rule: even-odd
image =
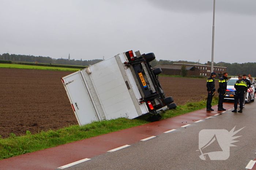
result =
[{"label": "dark distant tree line along the horizon on both sides of the truck", "polygon": [[[68,59],[52,59],[50,57],[43,57],[43,56],[33,56],[33,55],[16,55],[16,54],[2,54],[0,55],[0,60],[5,60],[6,58],[8,61],[12,62],[31,62],[31,63],[46,63],[46,64],[62,64],[62,65],[76,65],[76,66],[90,66],[101,62],[101,59],[95,60],[68,60]],[[173,65],[173,63],[185,63],[185,64],[200,64],[200,65],[207,65],[207,63],[197,63],[197,62],[188,62],[188,61],[171,61],[171,60],[153,60],[150,62],[152,67],[157,66],[158,64],[166,64],[166,65]],[[225,63],[219,62],[214,63],[214,66],[220,67],[227,67],[227,72],[229,75],[238,75],[238,74],[251,74],[253,77],[256,77],[256,63]]]}]

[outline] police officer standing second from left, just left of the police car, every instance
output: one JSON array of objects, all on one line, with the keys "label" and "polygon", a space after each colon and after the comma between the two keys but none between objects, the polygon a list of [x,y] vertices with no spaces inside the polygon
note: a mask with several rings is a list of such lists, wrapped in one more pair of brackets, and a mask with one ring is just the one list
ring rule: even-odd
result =
[{"label": "police officer standing second from left, just left of the police car", "polygon": [[218,103],[218,111],[226,110],[223,108],[224,95],[227,90],[227,72],[223,73],[223,76],[219,79],[219,103]]}]

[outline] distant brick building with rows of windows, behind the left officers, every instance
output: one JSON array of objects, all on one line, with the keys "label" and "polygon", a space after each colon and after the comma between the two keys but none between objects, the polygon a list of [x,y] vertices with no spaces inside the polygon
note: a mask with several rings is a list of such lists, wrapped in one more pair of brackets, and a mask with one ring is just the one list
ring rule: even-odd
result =
[{"label": "distant brick building with rows of windows, behind the left officers", "polygon": [[[208,62],[209,64],[209,62]],[[183,63],[173,63],[175,66],[182,66]],[[200,70],[200,75],[202,76],[210,76],[211,75],[211,66],[198,65],[198,64],[184,64],[185,66],[197,67]],[[213,67],[213,72],[218,75],[223,74],[223,72],[227,72],[227,67]]]}]

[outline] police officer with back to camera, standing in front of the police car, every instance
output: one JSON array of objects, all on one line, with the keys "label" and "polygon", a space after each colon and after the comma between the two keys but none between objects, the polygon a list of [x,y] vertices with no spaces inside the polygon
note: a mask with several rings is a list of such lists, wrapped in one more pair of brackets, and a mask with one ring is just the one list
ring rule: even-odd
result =
[{"label": "police officer with back to camera, standing in front of the police car", "polygon": [[237,112],[237,103],[238,99],[240,100],[240,110],[238,112],[242,113],[243,111],[243,100],[244,100],[244,93],[247,91],[247,84],[246,82],[242,79],[242,76],[238,76],[238,81],[235,84],[236,92],[234,96],[234,110],[232,112]]}]

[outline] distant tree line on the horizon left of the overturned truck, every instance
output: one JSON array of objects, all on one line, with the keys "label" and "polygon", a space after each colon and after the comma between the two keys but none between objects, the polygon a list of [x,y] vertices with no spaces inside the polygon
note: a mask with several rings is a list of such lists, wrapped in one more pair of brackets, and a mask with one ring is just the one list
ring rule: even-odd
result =
[{"label": "distant tree line on the horizon left of the overturned truck", "polygon": [[33,55],[16,55],[16,54],[2,54],[0,60],[8,60],[12,62],[28,62],[28,63],[45,63],[45,64],[61,64],[61,65],[76,65],[76,66],[90,66],[101,62],[101,59],[95,60],[68,60],[68,59],[52,59],[50,57],[33,56]]}]

